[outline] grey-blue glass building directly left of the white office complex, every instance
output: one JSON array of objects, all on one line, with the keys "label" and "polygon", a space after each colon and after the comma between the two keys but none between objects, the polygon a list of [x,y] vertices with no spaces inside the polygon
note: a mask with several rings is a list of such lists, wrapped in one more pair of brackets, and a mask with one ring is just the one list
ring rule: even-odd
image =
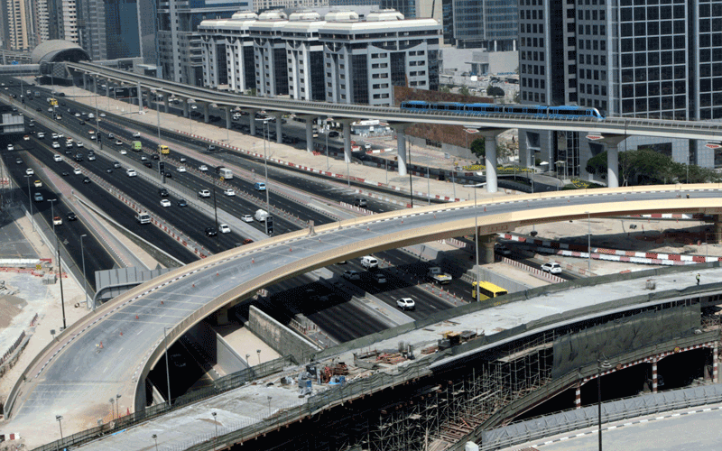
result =
[{"label": "grey-blue glass building directly left of the white office complex", "polygon": [[158,2],[158,65],[163,78],[201,86],[203,57],[199,24],[208,19],[230,19],[251,0],[169,0]]}]

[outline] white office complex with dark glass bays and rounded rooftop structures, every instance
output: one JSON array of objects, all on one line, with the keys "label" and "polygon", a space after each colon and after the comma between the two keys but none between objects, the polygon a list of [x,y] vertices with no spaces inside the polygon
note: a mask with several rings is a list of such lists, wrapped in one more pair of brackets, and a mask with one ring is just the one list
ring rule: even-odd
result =
[{"label": "white office complex with dark glass bays and rounded rooftop structures", "polygon": [[199,31],[207,87],[227,81],[242,92],[255,83],[258,96],[380,106],[393,105],[394,85],[439,87],[441,27],[433,19],[391,10],[363,21],[350,11],[266,12],[255,21],[205,21]]}]

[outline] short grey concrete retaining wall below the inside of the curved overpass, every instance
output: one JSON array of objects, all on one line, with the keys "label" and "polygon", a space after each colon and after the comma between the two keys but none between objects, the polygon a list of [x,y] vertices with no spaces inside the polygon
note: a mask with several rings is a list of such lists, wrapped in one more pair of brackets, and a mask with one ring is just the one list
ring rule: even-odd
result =
[{"label": "short grey concrete retaining wall below the inside of the curved overpass", "polygon": [[261,338],[266,345],[271,346],[278,354],[292,354],[299,362],[303,361],[304,356],[317,352],[305,338],[293,332],[290,328],[283,326],[255,306],[251,306],[248,312],[248,322],[245,327],[248,327],[251,332]]}]

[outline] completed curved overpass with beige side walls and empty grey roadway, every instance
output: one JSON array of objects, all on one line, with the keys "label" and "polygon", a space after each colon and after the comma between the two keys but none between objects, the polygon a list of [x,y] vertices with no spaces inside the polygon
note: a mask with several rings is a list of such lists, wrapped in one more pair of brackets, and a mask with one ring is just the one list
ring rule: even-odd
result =
[{"label": "completed curved overpass with beige side walls and empty grey roadway", "polygon": [[[690,198],[687,198],[687,195]],[[500,197],[366,216],[302,230],[193,262],[113,299],[36,357],[5,405],[14,422],[93,427],[108,399],[143,400],[144,378],[168,345],[218,308],[333,262],[408,244],[517,226],[654,212],[722,213],[722,185],[595,189]],[[475,215],[477,213],[477,215]],[[24,379],[24,382],[23,382]],[[138,390],[140,389],[140,390]],[[136,391],[141,395],[136,398]],[[143,406],[137,406],[139,409]]]}]

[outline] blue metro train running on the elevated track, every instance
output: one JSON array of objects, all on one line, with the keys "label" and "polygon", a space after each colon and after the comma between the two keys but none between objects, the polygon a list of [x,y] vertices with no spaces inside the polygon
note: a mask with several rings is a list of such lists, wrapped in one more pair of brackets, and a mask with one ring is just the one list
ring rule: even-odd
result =
[{"label": "blue metro train running on the elevated track", "polygon": [[410,111],[449,111],[459,115],[526,115],[543,119],[593,117],[598,121],[604,120],[604,116],[599,113],[597,108],[580,106],[429,103],[421,100],[408,100],[401,103],[401,108]]}]

